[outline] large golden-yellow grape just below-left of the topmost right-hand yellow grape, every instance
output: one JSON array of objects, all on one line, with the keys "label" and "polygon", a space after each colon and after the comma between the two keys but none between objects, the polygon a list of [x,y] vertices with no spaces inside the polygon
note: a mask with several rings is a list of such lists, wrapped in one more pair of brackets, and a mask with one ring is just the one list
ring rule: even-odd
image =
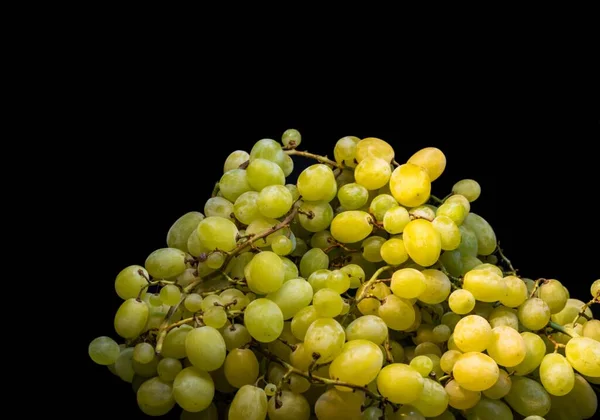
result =
[{"label": "large golden-yellow grape just below-left of the topmost right-hand yellow grape", "polygon": [[406,163],[392,172],[390,191],[401,205],[417,207],[429,200],[431,179],[422,167]]}]

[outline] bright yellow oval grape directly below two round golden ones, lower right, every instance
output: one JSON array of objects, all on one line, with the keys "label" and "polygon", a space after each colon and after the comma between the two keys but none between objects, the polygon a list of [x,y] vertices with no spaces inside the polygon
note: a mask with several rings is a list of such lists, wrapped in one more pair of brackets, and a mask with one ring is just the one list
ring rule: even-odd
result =
[{"label": "bright yellow oval grape directly below two round golden ones, lower right", "polygon": [[487,354],[472,351],[463,353],[456,360],[452,374],[461,387],[469,391],[485,391],[496,383],[500,369]]}]

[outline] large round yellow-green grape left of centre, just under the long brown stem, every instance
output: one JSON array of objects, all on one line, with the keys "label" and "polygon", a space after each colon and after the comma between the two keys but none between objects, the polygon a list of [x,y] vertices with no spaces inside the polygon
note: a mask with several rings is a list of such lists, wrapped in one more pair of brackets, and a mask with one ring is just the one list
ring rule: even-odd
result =
[{"label": "large round yellow-green grape left of centre, just under the long brown stem", "polygon": [[246,266],[245,273],[250,290],[264,295],[281,287],[285,267],[279,255],[272,251],[263,251],[254,256]]}]

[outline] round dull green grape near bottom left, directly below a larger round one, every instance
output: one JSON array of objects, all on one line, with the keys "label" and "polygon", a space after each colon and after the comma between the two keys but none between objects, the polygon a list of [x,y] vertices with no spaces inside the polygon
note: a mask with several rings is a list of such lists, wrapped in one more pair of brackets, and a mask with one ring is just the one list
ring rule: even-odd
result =
[{"label": "round dull green grape near bottom left, directly below a larger round one", "polygon": [[199,368],[186,367],[173,381],[173,398],[185,411],[196,413],[212,403],[215,385],[212,377]]}]

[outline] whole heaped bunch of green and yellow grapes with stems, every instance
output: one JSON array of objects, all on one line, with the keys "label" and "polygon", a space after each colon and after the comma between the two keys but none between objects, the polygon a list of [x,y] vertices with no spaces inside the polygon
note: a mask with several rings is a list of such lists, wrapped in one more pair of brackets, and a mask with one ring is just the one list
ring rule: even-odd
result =
[{"label": "whole heaped bunch of green and yellow grapes with stems", "polygon": [[[481,193],[431,194],[446,157],[398,163],[378,138],[334,160],[301,136],[234,151],[203,211],[124,268],[121,344],[91,359],[131,383],[140,410],[181,419],[587,419],[597,410],[600,321],[556,279],[520,277]],[[293,156],[315,159],[297,178]]]}]

